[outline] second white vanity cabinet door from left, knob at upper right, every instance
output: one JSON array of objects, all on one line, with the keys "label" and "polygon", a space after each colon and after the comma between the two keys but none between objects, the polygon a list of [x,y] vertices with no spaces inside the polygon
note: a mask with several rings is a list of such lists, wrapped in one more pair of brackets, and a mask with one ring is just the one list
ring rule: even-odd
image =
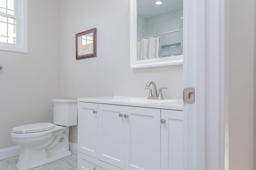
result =
[{"label": "second white vanity cabinet door from left, knob at upper right", "polygon": [[99,159],[122,169],[125,155],[123,111],[124,106],[99,104]]}]

